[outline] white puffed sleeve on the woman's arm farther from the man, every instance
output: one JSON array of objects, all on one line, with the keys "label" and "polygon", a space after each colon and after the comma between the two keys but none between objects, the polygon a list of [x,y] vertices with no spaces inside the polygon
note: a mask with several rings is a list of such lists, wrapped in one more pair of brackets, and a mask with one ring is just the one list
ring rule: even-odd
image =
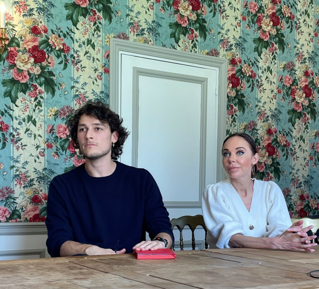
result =
[{"label": "white puffed sleeve on the woman's arm farther from the man", "polygon": [[270,181],[268,182],[269,205],[268,225],[265,237],[276,237],[287,230],[292,225],[287,209],[285,197],[279,186]]}]

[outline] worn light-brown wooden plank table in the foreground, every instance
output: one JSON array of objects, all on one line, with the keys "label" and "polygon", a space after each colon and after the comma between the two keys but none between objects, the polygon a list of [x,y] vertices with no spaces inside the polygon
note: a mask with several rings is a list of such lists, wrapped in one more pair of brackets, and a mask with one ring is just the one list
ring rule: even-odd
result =
[{"label": "worn light-brown wooden plank table in the foreground", "polygon": [[[0,289],[314,289],[315,253],[248,248],[176,251],[174,260],[103,255],[0,261]],[[319,276],[319,274],[318,274]]]}]

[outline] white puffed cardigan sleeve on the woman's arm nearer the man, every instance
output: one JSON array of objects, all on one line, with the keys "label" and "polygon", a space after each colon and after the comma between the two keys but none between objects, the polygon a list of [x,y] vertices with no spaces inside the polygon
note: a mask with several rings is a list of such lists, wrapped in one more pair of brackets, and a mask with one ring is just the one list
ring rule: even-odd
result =
[{"label": "white puffed cardigan sleeve on the woman's arm nearer the man", "polygon": [[[229,205],[229,196],[219,186],[206,187],[202,210],[204,222],[210,235],[210,246],[230,248],[229,240],[234,234],[243,234],[243,225],[234,218],[234,209]],[[215,243],[215,244],[213,244]]]}]

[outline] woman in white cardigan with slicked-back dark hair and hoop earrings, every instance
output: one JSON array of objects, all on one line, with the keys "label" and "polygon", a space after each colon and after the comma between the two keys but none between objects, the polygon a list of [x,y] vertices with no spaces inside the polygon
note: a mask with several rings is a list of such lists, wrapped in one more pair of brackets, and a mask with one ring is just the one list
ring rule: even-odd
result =
[{"label": "woman in white cardigan with slicked-back dark hair and hoop earrings", "polygon": [[[314,252],[313,226],[291,223],[285,198],[274,182],[252,179],[258,153],[246,133],[234,133],[224,141],[223,166],[229,179],[206,187],[203,216],[210,247],[248,247]],[[268,238],[273,237],[273,238]]]}]

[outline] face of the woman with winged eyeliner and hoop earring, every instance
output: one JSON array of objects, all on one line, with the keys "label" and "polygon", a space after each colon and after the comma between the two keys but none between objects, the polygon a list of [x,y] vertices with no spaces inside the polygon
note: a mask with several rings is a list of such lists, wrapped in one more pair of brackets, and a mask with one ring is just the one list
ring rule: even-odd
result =
[{"label": "face of the woman with winged eyeliner and hoop earring", "polygon": [[258,154],[253,153],[244,138],[234,136],[228,139],[222,154],[223,166],[230,178],[250,178],[252,166],[258,162]]}]

